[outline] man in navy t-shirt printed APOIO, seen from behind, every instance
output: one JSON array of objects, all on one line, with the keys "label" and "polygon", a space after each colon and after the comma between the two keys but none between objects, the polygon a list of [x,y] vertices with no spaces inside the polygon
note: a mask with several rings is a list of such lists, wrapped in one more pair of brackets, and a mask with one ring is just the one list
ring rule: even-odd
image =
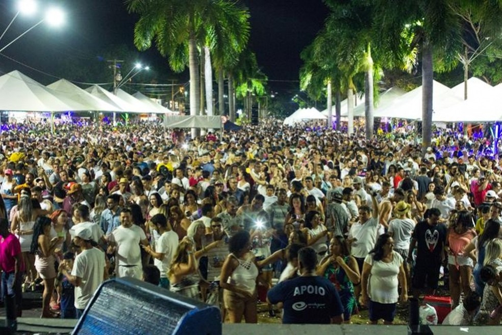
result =
[{"label": "man in navy t-shirt printed APOIO, seen from behind", "polygon": [[314,249],[300,249],[298,263],[300,276],[275,285],[268,291],[267,302],[284,304],[283,323],[342,323],[343,306],[335,286],[315,274]]}]

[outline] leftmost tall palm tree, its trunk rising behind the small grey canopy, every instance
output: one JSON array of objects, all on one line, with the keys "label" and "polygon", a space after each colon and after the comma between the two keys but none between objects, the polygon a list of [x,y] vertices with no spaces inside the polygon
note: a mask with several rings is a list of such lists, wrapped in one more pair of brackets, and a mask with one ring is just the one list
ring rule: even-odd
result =
[{"label": "leftmost tall palm tree, its trunk rising behind the small grey canopy", "polygon": [[[219,34],[233,36],[229,31],[237,27],[233,23],[242,23],[243,16],[247,21],[248,16],[226,0],[125,0],[125,4],[129,12],[139,15],[134,27],[134,43],[139,50],[149,49],[155,41],[174,71],[181,72],[188,65],[190,115],[197,115],[201,108],[198,47],[210,46]],[[243,39],[247,40],[247,35],[237,38],[240,42]]]}]

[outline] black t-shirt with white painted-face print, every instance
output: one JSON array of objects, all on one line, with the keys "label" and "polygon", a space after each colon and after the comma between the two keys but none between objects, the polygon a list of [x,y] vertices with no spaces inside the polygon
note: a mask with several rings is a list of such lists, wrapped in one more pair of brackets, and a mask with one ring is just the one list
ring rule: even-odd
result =
[{"label": "black t-shirt with white painted-face print", "polygon": [[419,222],[412,237],[417,240],[417,263],[438,264],[446,241],[446,226],[439,223],[430,226],[426,221]]}]

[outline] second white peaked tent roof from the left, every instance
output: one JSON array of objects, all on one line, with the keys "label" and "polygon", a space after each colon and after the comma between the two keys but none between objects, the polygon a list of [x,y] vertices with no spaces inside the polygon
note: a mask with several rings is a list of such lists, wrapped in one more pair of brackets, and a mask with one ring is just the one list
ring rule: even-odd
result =
[{"label": "second white peaked tent roof from the left", "polygon": [[110,111],[110,112],[121,112],[122,109],[110,105],[103,100],[100,100],[89,92],[83,90],[79,86],[67,81],[66,79],[60,79],[50,85],[48,88],[52,89],[57,93],[66,94],[73,101],[81,103],[88,106],[88,110],[96,111]]}]

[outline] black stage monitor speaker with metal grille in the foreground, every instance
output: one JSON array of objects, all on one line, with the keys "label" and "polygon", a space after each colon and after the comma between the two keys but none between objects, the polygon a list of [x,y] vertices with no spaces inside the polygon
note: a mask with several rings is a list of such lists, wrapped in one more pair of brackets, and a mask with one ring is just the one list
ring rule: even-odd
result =
[{"label": "black stage monitor speaker with metal grille in the foreground", "polygon": [[99,286],[72,334],[219,335],[221,314],[155,285],[116,278]]}]

